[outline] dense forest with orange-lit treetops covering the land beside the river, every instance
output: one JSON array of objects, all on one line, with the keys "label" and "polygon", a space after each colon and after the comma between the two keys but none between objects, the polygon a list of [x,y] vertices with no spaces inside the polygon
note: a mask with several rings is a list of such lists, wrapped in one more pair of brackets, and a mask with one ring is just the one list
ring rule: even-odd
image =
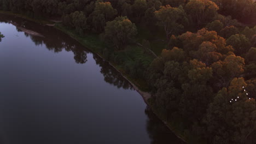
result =
[{"label": "dense forest with orange-lit treetops covering the land beside the river", "polygon": [[256,143],[253,0],[0,0],[0,10],[98,39],[188,143]]}]

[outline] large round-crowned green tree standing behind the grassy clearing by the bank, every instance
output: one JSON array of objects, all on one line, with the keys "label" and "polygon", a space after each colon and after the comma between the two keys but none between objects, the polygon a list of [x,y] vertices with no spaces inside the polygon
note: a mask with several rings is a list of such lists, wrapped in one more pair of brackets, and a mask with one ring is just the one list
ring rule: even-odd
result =
[{"label": "large round-crowned green tree standing behind the grassy clearing by the bank", "polygon": [[136,34],[137,28],[134,23],[127,17],[117,17],[115,20],[107,22],[103,39],[120,49],[134,39]]}]

